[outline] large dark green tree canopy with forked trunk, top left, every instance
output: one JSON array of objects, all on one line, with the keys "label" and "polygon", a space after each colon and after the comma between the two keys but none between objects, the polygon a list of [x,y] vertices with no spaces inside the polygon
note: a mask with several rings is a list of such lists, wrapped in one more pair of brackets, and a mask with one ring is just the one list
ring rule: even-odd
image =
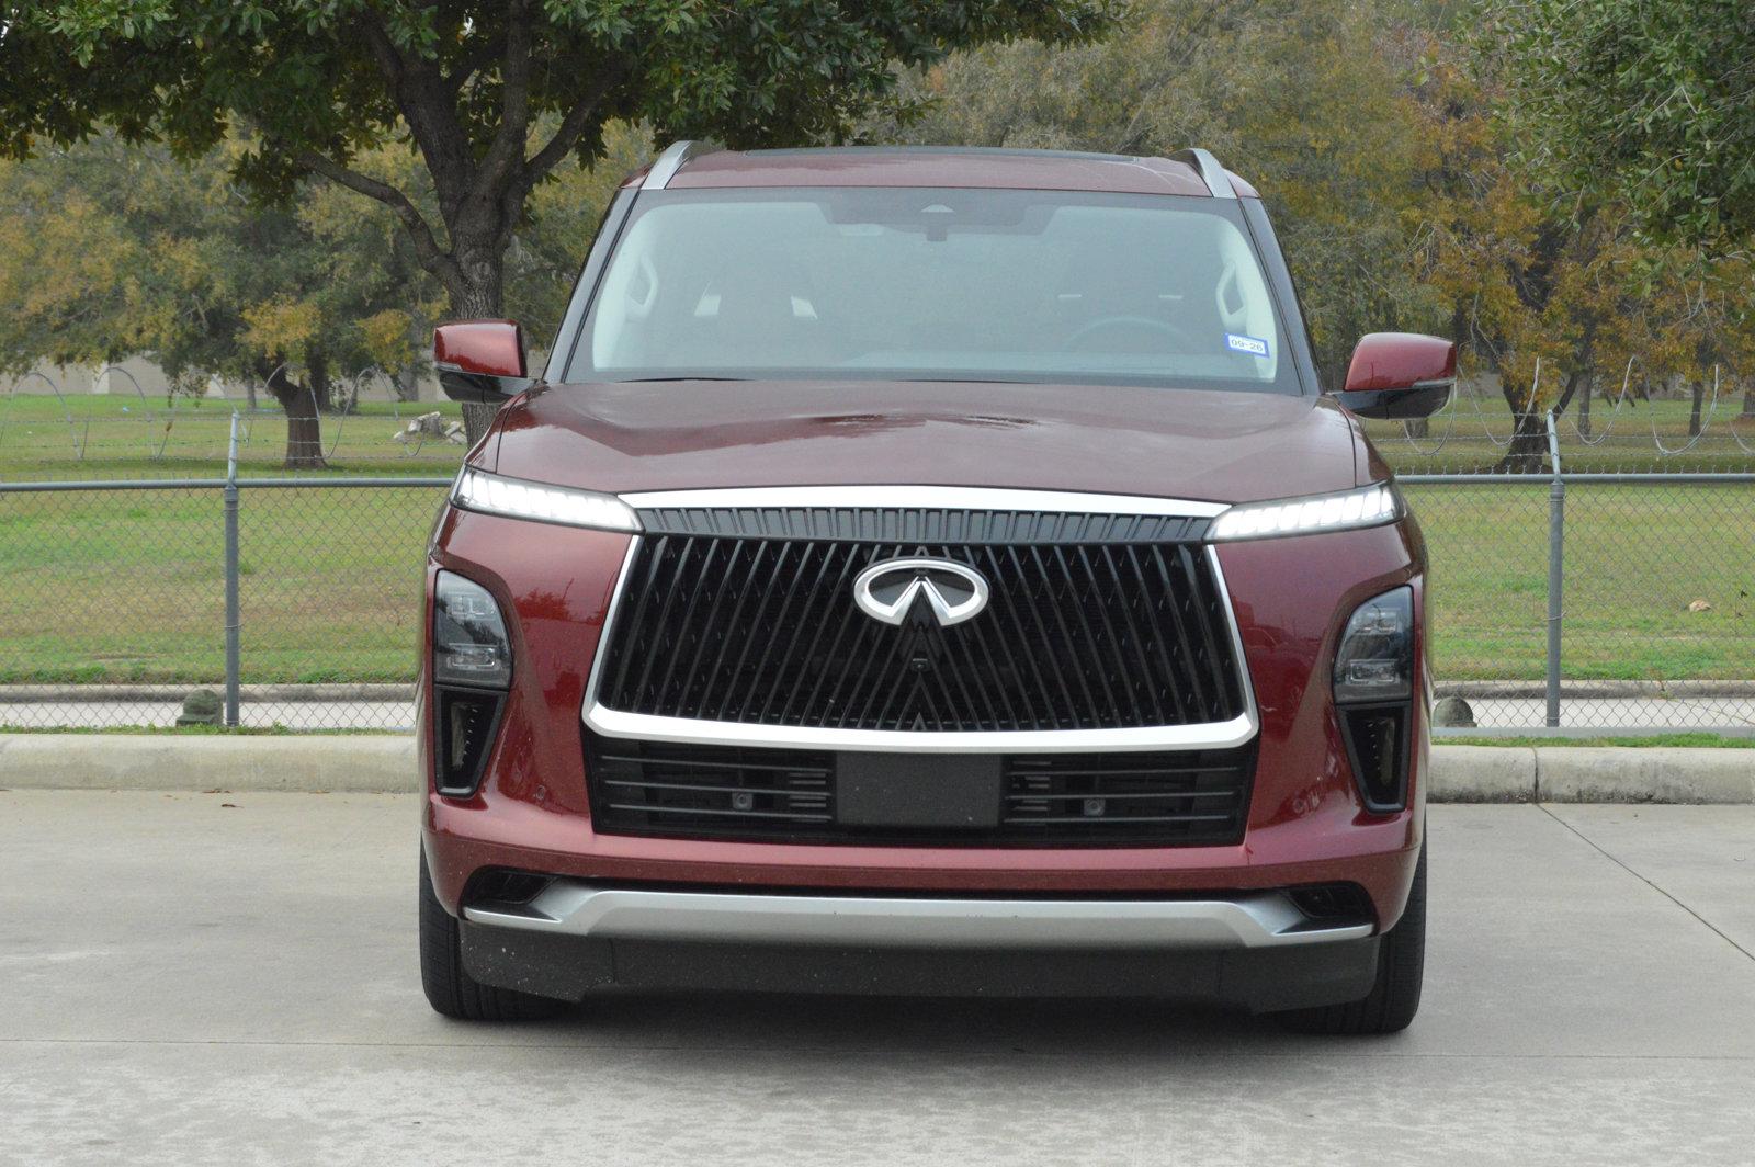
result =
[{"label": "large dark green tree canopy with forked trunk, top left", "polygon": [[[232,172],[256,195],[284,200],[314,172],[384,202],[453,311],[486,314],[530,191],[569,156],[598,160],[618,119],[732,146],[837,139],[899,109],[897,63],[1076,39],[1111,4],[21,0],[0,40],[0,149],[111,123],[198,156],[240,125]],[[358,165],[404,139],[435,207]]]}]

